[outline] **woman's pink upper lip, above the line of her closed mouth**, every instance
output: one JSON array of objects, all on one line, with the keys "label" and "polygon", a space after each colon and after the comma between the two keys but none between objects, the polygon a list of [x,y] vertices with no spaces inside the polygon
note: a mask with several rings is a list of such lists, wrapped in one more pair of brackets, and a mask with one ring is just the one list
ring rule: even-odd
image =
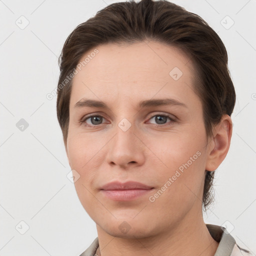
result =
[{"label": "woman's pink upper lip, above the line of her closed mouth", "polygon": [[128,189],[151,189],[152,186],[148,186],[136,181],[126,181],[124,183],[121,183],[119,181],[113,181],[109,182],[103,186],[101,186],[100,189],[103,190],[128,190]]}]

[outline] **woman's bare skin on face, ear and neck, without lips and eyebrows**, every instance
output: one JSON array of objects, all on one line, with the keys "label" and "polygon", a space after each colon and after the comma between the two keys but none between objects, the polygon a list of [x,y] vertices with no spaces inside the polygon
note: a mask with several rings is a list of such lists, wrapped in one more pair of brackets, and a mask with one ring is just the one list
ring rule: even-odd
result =
[{"label": "woman's bare skin on face, ear and neck, without lips and eyebrows", "polygon": [[[97,49],[73,78],[66,153],[80,175],[75,189],[96,223],[101,255],[214,255],[218,242],[203,221],[201,199],[205,169],[215,170],[228,151],[230,117],[223,115],[207,138],[201,100],[192,89],[195,71],[180,50],[155,41]],[[169,75],[174,67],[183,73],[177,80]],[[103,101],[109,109],[74,107],[81,98]],[[137,106],[163,98],[186,106]],[[102,116],[101,123],[80,122],[90,113]],[[157,121],[162,114],[175,120]],[[126,131],[118,126],[123,118],[131,124]],[[149,201],[197,151],[200,156]],[[127,180],[154,188],[131,201],[114,201],[100,191],[110,181]],[[123,221],[130,228],[125,233],[119,228]]]}]

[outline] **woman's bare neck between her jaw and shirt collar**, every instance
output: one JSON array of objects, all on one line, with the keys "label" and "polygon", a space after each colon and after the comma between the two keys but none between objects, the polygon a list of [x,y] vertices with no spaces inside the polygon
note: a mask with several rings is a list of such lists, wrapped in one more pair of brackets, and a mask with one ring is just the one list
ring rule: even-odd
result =
[{"label": "woman's bare neck between her jaw and shirt collar", "polygon": [[202,217],[187,213],[168,231],[143,238],[116,237],[96,225],[99,241],[97,254],[101,256],[213,256],[218,242],[210,235]]}]

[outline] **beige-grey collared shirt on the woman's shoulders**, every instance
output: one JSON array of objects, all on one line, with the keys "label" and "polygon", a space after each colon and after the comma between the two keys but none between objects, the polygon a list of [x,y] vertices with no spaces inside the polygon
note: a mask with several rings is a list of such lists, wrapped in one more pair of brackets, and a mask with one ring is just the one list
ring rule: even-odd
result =
[{"label": "beige-grey collared shirt on the woman's shoulders", "polygon": [[[219,242],[214,256],[249,256],[249,251],[239,247],[235,239],[222,226],[206,224],[210,235],[214,240]],[[90,246],[80,256],[94,256],[98,247],[98,237],[90,244]]]}]

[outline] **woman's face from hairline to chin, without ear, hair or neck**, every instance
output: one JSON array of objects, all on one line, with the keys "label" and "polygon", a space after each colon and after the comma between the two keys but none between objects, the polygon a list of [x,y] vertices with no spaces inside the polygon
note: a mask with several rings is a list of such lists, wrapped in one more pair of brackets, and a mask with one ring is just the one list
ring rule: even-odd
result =
[{"label": "woman's face from hairline to chin, without ear, hair or neck", "polygon": [[[81,204],[98,229],[119,237],[191,221],[209,152],[191,62],[153,41],[97,49],[77,69],[69,105],[66,153]],[[148,189],[102,189],[112,181]]]}]

